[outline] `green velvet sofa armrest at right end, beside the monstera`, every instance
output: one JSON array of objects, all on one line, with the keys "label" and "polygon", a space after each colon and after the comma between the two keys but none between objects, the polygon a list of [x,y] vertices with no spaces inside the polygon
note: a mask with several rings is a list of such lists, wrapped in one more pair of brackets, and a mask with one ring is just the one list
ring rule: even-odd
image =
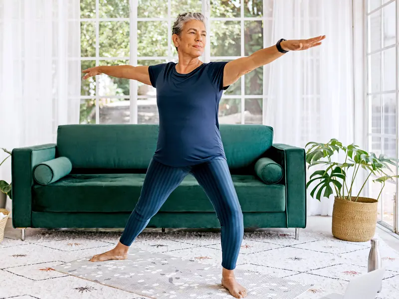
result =
[{"label": "green velvet sofa armrest at right end, beside the monstera", "polygon": [[287,227],[306,227],[306,152],[305,149],[273,144],[265,153],[283,167]]}]

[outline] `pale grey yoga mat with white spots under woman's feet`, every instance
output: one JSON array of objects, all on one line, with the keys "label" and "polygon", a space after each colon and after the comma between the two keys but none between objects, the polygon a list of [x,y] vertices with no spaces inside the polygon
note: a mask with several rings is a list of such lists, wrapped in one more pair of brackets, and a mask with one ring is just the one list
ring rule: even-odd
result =
[{"label": "pale grey yoga mat with white spots under woman's feet", "polygon": [[[201,265],[162,253],[133,248],[128,259],[89,262],[83,258],[54,269],[107,286],[156,299],[169,298],[233,298],[221,286],[219,263]],[[245,285],[252,299],[294,299],[311,287],[248,270],[234,271],[238,283]],[[165,291],[167,290],[167,291]]]}]

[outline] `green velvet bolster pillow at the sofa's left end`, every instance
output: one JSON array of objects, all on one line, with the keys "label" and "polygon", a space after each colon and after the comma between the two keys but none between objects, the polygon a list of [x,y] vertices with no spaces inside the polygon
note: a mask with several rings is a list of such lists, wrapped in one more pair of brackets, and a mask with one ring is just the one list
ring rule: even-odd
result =
[{"label": "green velvet bolster pillow at the sofa's left end", "polygon": [[72,163],[67,157],[58,157],[35,166],[33,178],[41,185],[47,185],[69,174]]}]

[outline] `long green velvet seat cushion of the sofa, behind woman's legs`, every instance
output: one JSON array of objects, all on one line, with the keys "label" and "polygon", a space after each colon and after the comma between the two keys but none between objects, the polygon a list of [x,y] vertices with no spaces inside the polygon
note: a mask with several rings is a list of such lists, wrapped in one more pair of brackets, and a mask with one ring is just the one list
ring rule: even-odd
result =
[{"label": "long green velvet seat cushion of the sofa, behind woman's legs", "polygon": [[[145,174],[68,174],[32,187],[36,212],[131,212],[140,197]],[[232,175],[243,212],[285,211],[285,186],[267,185],[254,175]],[[160,212],[212,212],[212,204],[197,180],[188,175]]]}]

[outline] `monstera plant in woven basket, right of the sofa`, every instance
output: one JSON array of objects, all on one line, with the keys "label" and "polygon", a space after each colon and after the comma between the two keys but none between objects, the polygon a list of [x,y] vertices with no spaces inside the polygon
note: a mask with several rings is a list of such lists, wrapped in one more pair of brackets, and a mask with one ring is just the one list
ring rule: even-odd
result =
[{"label": "monstera plant in woven basket, right of the sofa", "polygon": [[[321,165],[324,168],[324,170],[316,170],[310,175],[306,188],[309,188],[313,182],[317,182],[310,195],[320,200],[321,196],[329,197],[335,194],[332,219],[334,237],[353,242],[371,240],[376,231],[378,200],[385,187],[385,182],[399,177],[387,173],[388,171],[392,172],[388,164],[397,168],[399,160],[388,158],[384,154],[377,157],[374,152],[368,153],[354,144],[345,147],[336,139],[331,139],[327,144],[310,142],[305,148],[308,148],[306,151],[308,169],[315,165]],[[332,161],[331,157],[335,153],[339,153],[340,150],[346,153],[345,160],[343,162]],[[347,171],[352,167],[353,174],[352,177],[349,177]],[[355,192],[353,186],[360,168],[366,170],[367,178],[359,192]],[[373,182],[382,183],[378,197],[360,197],[372,174],[377,176]]]}]

